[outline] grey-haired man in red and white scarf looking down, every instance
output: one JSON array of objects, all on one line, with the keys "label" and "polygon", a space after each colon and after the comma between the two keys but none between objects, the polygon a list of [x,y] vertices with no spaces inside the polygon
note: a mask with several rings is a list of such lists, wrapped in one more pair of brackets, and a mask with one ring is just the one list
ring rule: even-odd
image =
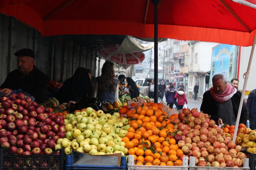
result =
[{"label": "grey-haired man in red and white scarf looking down", "polygon": [[[225,76],[216,74],[212,77],[213,87],[204,92],[203,101],[200,110],[209,114],[217,125],[219,124],[236,124],[239,103],[242,93],[236,88],[227,84]],[[239,123],[246,124],[248,111],[243,103]]]}]

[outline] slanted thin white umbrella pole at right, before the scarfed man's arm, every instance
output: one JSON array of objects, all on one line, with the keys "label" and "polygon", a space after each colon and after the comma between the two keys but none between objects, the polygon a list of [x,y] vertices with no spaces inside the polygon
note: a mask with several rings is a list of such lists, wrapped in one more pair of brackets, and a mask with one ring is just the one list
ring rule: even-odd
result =
[{"label": "slanted thin white umbrella pole at right, before the scarfed man's arm", "polygon": [[244,73],[244,76],[243,76],[243,78],[244,78],[244,87],[243,87],[242,96],[241,96],[241,100],[240,100],[240,104],[239,104],[237,118],[236,118],[236,126],[235,126],[235,131],[234,131],[234,136],[233,136],[233,142],[236,142],[236,134],[237,134],[237,130],[238,130],[238,125],[239,125],[239,120],[240,120],[240,116],[241,116],[242,106],[243,106],[243,103],[244,103],[244,94],[245,94],[245,89],[246,89],[246,86],[247,86],[247,81],[248,81],[249,72],[250,72],[250,68],[251,68],[251,60],[252,60],[252,57],[253,57],[255,43],[256,43],[256,34],[254,35],[254,40],[253,40],[253,44],[252,44],[252,48],[251,48],[251,55],[250,55],[249,63],[248,63],[248,66],[247,66],[247,71],[246,71],[246,73]]}]

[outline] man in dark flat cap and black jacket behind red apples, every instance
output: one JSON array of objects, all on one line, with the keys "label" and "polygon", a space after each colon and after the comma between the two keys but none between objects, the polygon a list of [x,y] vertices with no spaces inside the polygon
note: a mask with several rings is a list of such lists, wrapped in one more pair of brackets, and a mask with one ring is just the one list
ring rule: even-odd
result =
[{"label": "man in dark flat cap and black jacket behind red apples", "polygon": [[0,92],[9,96],[13,90],[21,89],[32,95],[37,103],[44,102],[49,78],[34,66],[34,51],[23,48],[14,55],[17,56],[18,69],[7,75]]}]

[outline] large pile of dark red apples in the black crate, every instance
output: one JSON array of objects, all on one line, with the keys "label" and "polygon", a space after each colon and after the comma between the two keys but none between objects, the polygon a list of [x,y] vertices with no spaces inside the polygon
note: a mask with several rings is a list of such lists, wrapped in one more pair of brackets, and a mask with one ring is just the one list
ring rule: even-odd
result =
[{"label": "large pile of dark red apples in the black crate", "polygon": [[56,141],[65,137],[64,117],[24,93],[1,97],[0,103],[0,145],[12,154],[50,155]]}]

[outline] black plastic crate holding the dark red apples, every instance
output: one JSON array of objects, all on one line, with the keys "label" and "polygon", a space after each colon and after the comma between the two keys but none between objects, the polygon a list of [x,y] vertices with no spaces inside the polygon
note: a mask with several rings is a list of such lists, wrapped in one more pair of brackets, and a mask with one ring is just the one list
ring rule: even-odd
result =
[{"label": "black plastic crate holding the dark red apples", "polygon": [[[56,154],[59,151],[59,154]],[[63,170],[64,149],[52,155],[13,155],[7,149],[0,149],[1,170]]]}]

